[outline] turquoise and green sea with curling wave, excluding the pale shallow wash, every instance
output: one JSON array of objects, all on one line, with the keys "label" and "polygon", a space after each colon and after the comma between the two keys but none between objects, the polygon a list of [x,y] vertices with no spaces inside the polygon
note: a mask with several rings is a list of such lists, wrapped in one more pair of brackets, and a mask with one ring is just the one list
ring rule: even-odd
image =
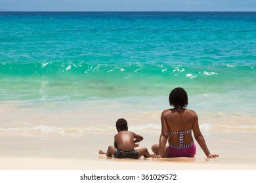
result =
[{"label": "turquoise and green sea with curling wave, excluding the pale shallow wash", "polygon": [[255,12],[0,12],[0,100],[255,89]]}]

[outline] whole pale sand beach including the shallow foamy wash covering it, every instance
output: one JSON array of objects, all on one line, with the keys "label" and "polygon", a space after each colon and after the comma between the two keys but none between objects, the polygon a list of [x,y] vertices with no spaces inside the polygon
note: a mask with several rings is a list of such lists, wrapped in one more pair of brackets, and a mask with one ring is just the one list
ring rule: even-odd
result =
[{"label": "whole pale sand beach including the shallow foamy wash covering it", "polygon": [[110,159],[98,154],[114,144],[120,116],[129,130],[144,137],[140,147],[152,154],[151,146],[160,137],[163,108],[153,101],[161,103],[160,99],[146,98],[144,103],[134,99],[132,104],[128,99],[3,103],[0,169],[256,169],[253,114],[212,114],[201,108],[196,108],[201,131],[210,152],[219,158],[207,159],[197,142],[192,159]]}]

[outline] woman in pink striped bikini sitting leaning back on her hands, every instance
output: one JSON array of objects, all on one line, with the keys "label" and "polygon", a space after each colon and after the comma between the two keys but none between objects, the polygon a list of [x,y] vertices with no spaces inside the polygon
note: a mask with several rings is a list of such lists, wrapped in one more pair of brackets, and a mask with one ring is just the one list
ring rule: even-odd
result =
[{"label": "woman in pink striped bikini sitting leaning back on her hands", "polygon": [[[188,95],[183,88],[175,88],[169,95],[169,103],[174,108],[163,110],[161,113],[160,144],[154,144],[152,158],[194,157],[196,145],[194,138],[200,144],[207,158],[219,157],[209,152],[198,125],[198,116],[194,110],[186,109]],[[166,142],[169,146],[165,147]]]}]

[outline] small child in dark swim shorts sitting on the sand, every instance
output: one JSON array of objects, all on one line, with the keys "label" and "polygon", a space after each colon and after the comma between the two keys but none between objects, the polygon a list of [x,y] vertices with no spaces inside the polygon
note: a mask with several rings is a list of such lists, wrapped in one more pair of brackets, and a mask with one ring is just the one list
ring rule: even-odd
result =
[{"label": "small child in dark swim shorts sitting on the sand", "polygon": [[108,157],[114,158],[150,158],[147,148],[139,148],[135,150],[137,142],[143,140],[143,137],[131,131],[128,131],[127,121],[123,118],[118,119],[116,122],[116,129],[118,133],[115,135],[114,146],[108,146],[107,152],[100,150],[99,154],[106,154]]}]

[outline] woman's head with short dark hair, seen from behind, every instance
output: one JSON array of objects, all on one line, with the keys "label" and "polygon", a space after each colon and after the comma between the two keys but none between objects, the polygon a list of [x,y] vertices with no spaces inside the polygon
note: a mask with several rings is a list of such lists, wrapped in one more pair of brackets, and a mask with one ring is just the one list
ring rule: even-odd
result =
[{"label": "woman's head with short dark hair, seen from behind", "polygon": [[175,88],[169,95],[169,103],[171,106],[177,108],[185,108],[188,105],[188,95],[183,88]]}]

